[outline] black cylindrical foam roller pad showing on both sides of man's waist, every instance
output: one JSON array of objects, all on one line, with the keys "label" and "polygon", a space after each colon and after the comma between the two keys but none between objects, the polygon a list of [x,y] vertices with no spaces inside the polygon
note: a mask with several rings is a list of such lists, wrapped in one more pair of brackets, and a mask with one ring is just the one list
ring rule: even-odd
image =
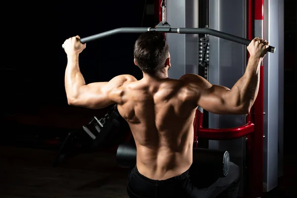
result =
[{"label": "black cylindrical foam roller pad showing on both sides of man's waist", "polygon": [[[133,168],[136,164],[136,146],[131,143],[119,145],[116,152],[116,161],[122,168]],[[228,151],[193,148],[193,164],[190,168],[192,176],[199,176],[204,171],[211,170],[216,177],[225,177],[228,174],[230,157]]]}]

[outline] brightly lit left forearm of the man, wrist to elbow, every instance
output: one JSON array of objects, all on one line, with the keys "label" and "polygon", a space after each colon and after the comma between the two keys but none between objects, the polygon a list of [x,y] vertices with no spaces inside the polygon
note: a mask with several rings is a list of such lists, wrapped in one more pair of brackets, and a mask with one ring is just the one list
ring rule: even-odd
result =
[{"label": "brightly lit left forearm of the man, wrist to elbow", "polygon": [[79,89],[86,84],[79,69],[78,56],[78,54],[67,55],[68,61],[65,71],[65,90],[68,101],[77,99]]}]

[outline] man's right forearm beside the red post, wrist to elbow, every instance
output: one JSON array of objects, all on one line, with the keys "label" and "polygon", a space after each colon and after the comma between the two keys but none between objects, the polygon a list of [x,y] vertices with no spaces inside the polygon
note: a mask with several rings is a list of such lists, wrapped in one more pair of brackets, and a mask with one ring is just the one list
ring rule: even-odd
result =
[{"label": "man's right forearm beside the red post, wrist to elbow", "polygon": [[250,56],[245,74],[231,89],[238,97],[237,103],[244,109],[249,110],[257,98],[261,61],[261,58]]}]

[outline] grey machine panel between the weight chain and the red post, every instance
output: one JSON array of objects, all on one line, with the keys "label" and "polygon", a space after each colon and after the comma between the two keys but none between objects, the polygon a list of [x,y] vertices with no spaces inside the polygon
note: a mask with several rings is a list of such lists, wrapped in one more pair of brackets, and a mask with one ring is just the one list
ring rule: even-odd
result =
[{"label": "grey machine panel between the weight chain and the red post", "polygon": [[[232,6],[230,6],[232,5]],[[246,0],[209,0],[209,28],[246,38]],[[232,88],[243,76],[247,65],[247,47],[209,36],[209,82]],[[243,115],[209,113],[209,128],[231,128],[246,124]],[[209,148],[228,150],[230,160],[245,169],[245,138],[209,141]],[[243,194],[243,182],[240,195]]]}]

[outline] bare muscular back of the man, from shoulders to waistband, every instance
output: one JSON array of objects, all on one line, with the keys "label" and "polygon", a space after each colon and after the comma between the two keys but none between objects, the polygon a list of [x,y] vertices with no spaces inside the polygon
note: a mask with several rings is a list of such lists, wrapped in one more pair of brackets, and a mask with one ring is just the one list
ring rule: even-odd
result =
[{"label": "bare muscular back of the man, from shoulders to waistband", "polygon": [[163,180],[190,168],[197,108],[192,95],[181,80],[143,79],[123,86],[118,110],[134,136],[141,174]]}]

